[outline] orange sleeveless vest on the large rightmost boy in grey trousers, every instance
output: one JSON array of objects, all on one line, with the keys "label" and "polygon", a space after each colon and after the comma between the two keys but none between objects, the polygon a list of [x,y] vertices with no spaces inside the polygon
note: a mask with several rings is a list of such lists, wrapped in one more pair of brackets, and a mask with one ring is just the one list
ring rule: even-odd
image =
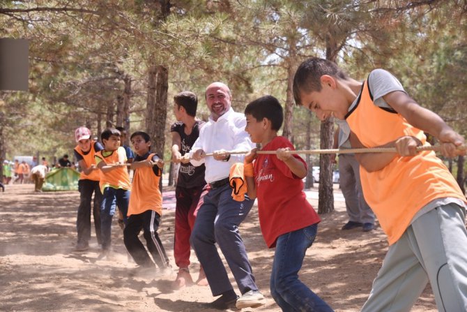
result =
[{"label": "orange sleeveless vest on the large rightmost boy in grey trousers", "polygon": [[[429,145],[424,133],[408,124],[401,114],[374,105],[367,81],[346,121],[365,147],[378,147],[404,135],[412,135]],[[365,200],[388,235],[390,245],[397,242],[413,216],[432,200],[466,201],[456,180],[434,151],[422,151],[413,157],[397,156],[376,172],[367,172],[360,166],[360,180]]]}]

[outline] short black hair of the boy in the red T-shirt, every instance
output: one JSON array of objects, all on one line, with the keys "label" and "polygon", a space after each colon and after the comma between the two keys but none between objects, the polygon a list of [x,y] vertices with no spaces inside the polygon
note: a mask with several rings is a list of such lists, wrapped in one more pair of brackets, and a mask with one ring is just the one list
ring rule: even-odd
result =
[{"label": "short black hair of the boy in the red T-shirt", "polygon": [[284,110],[274,96],[261,96],[245,107],[245,114],[250,114],[258,121],[263,118],[271,121],[271,129],[278,131],[284,121]]}]

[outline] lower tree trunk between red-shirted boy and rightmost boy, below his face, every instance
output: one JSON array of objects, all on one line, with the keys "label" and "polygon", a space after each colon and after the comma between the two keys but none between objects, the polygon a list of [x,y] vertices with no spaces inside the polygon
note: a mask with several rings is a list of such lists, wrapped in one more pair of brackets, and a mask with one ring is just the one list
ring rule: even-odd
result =
[{"label": "lower tree trunk between red-shirted boy and rightmost boy, below his face", "polygon": [[[332,133],[334,120],[332,118],[321,122],[320,149],[332,148]],[[332,163],[330,154],[319,156],[319,200],[318,213],[326,214],[334,210],[334,188],[332,188]]]}]

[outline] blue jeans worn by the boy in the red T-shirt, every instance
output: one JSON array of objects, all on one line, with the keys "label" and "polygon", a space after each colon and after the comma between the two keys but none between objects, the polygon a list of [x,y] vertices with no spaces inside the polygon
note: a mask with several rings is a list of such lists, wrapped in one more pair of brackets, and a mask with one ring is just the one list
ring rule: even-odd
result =
[{"label": "blue jeans worn by the boy in the red T-shirt", "polygon": [[298,279],[305,252],[312,246],[317,230],[318,225],[313,224],[277,238],[270,292],[282,311],[332,311]]}]

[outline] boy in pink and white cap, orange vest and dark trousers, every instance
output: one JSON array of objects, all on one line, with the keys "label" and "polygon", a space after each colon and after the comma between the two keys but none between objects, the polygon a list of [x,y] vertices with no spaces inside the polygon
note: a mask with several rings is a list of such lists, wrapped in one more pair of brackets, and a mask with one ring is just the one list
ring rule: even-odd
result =
[{"label": "boy in pink and white cap, orange vest and dark trousers", "polygon": [[77,146],[74,149],[75,158],[79,163],[81,174],[79,175],[79,207],[76,220],[78,233],[75,251],[86,251],[91,239],[91,198],[94,193],[94,227],[95,237],[100,244],[100,204],[102,193],[99,188],[100,174],[95,164],[95,153],[104,149],[102,144],[91,140],[91,131],[86,127],[79,127],[75,131]]}]

